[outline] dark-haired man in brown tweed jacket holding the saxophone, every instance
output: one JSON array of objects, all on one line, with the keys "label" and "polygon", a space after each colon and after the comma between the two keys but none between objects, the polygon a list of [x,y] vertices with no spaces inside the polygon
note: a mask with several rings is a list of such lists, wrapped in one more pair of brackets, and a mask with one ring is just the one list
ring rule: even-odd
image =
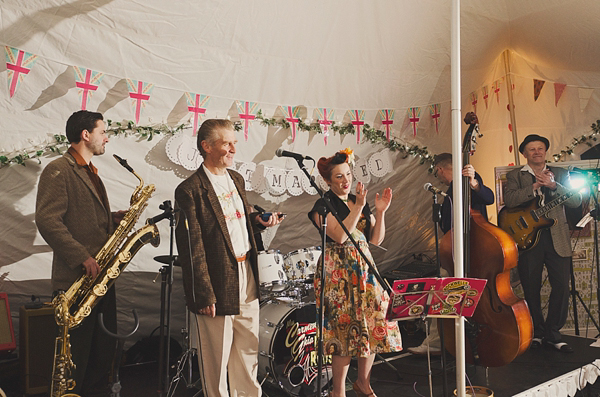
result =
[{"label": "dark-haired man in brown tweed jacket holding the saxophone", "polygon": [[[52,287],[67,290],[83,273],[95,276],[99,266],[94,255],[102,248],[124,211],[112,214],[93,156],[104,154],[108,142],[102,114],[85,110],[69,117],[66,134],[71,146],[46,166],[40,176],[35,222],[54,251]],[[107,385],[114,340],[96,326],[104,313],[109,330],[116,332],[114,288],[82,324],[70,331],[73,362],[71,374],[76,394],[91,396]]]}]

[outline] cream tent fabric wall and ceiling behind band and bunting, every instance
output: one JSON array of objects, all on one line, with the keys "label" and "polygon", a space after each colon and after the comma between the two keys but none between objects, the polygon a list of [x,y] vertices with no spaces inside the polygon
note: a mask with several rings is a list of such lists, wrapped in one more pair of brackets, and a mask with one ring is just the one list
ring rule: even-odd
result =
[{"label": "cream tent fabric wall and ceiling behind band and bunting", "polygon": [[[488,185],[493,184],[494,167],[515,162],[507,73],[514,83],[519,142],[529,133],[540,133],[551,139],[550,151],[558,151],[572,137],[588,132],[598,118],[598,15],[600,4],[584,0],[462,1],[462,110],[473,110],[469,95],[477,92],[484,137],[472,162]],[[348,121],[347,110],[362,109],[371,125],[379,109],[391,108],[397,110],[394,139],[426,146],[432,154],[449,151],[449,18],[450,3],[436,0],[4,0],[0,44],[34,53],[38,60],[12,98],[8,84],[0,83],[0,155],[43,146],[63,132],[66,118],[81,105],[75,66],[105,74],[88,109],[112,120],[133,118],[126,79],[134,79],[154,84],[141,125],[188,123],[185,92],[211,96],[205,117],[232,120],[239,118],[236,100],[257,102],[266,117],[281,117],[279,105],[303,106],[301,114],[308,121],[314,121],[318,107],[334,109],[337,122]],[[510,71],[502,55],[507,49]],[[5,76],[8,70],[2,63],[0,79]],[[547,81],[537,101],[533,79]],[[490,98],[485,107],[481,89],[496,81],[504,81],[499,101]],[[557,105],[554,82],[567,84]],[[593,90],[583,110],[580,88]],[[431,104],[442,106],[439,134],[428,115]],[[422,110],[416,136],[405,116],[410,107]],[[184,134],[191,136],[192,131]],[[357,144],[352,135],[332,135],[325,145],[322,134],[301,132],[292,141],[289,130],[259,122],[252,124],[248,141],[243,133],[237,137],[238,160],[287,170],[297,165],[275,157],[280,147],[313,158],[345,147],[352,147],[359,158],[382,150],[368,142]],[[169,161],[167,141],[161,136],[152,141],[111,138],[107,155],[94,163],[114,208],[128,207],[136,180],[110,158],[112,153],[127,158],[147,183],[157,185],[148,217],[160,212],[158,205],[164,200],[172,200],[174,188],[190,171]],[[0,216],[5,220],[0,231],[0,290],[11,293],[16,301],[11,307],[19,307],[31,294],[50,294],[52,254],[36,232],[33,214],[39,173],[52,159],[0,169]],[[372,178],[368,186],[371,205],[376,192],[387,186],[394,189],[383,243],[387,251],[373,248],[383,270],[410,260],[412,254],[432,256],[431,200],[422,186],[437,181],[419,163],[419,158],[397,154],[393,172]],[[252,192],[250,199],[288,214],[269,235],[269,248],[288,253],[319,244],[306,217],[315,196]],[[495,217],[494,211],[490,214]],[[160,264],[152,258],[168,252],[168,228],[159,227],[161,246],[144,248],[117,282],[122,284],[122,321],[131,307],[138,308],[143,312],[142,334],[155,326],[159,307],[158,285],[152,279]],[[176,285],[174,310],[180,324],[183,300],[178,280]]]}]

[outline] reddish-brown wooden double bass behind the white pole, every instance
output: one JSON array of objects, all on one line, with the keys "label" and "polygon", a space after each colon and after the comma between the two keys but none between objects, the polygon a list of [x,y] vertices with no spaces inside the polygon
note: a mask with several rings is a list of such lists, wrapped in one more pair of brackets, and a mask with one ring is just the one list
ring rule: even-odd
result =
[{"label": "reddish-brown wooden double bass behind the white pole", "polygon": [[[468,113],[469,128],[463,140],[463,167],[474,152],[478,126],[477,116]],[[510,269],[517,266],[518,249],[504,230],[491,224],[479,211],[470,208],[469,177],[463,177],[465,210],[465,277],[486,279],[487,285],[471,318],[465,319],[465,360],[484,367],[500,367],[512,362],[529,348],[533,323],[527,303],[517,297],[510,283]],[[468,222],[468,223],[467,223]],[[440,263],[450,274],[454,230],[440,241]],[[456,356],[454,320],[443,319],[446,350]]]}]

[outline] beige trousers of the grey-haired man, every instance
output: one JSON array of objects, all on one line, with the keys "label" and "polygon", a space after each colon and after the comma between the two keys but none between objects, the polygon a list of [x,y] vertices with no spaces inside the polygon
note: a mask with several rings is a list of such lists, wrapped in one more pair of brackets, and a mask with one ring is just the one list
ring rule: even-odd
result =
[{"label": "beige trousers of the grey-haired man", "polygon": [[258,291],[249,260],[239,262],[238,270],[240,314],[217,315],[215,318],[192,315],[192,319],[196,318],[198,363],[202,390],[206,397],[261,395],[257,380]]}]

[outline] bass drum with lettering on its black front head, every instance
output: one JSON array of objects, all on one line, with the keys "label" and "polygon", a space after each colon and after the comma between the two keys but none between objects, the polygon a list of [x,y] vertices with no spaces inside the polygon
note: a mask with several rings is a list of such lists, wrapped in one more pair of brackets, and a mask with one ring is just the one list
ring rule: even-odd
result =
[{"label": "bass drum with lettering on its black front head", "polygon": [[[317,395],[316,308],[314,303],[271,300],[260,307],[259,379],[291,396]],[[332,380],[331,355],[323,357],[321,390]],[[325,394],[323,394],[325,395]]]}]

